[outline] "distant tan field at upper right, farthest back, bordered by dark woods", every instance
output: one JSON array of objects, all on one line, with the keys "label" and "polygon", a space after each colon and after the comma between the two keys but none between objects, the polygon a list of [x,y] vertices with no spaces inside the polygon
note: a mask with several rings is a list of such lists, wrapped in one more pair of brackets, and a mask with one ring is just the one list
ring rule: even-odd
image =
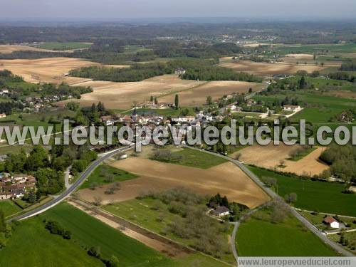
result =
[{"label": "distant tan field at upper right, farthest back, bordered by dark woods", "polygon": [[322,70],[326,67],[313,65],[295,65],[286,63],[257,63],[252,61],[233,61],[232,59],[222,58],[221,67],[232,68],[237,72],[246,72],[256,75],[275,75],[275,74],[293,74],[298,70],[306,70],[308,73],[314,70]]}]

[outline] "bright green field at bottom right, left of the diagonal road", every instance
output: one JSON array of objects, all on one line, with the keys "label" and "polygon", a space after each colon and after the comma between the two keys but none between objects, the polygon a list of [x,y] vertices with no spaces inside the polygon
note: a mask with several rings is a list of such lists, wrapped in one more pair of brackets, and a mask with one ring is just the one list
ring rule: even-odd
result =
[{"label": "bright green field at bottom right, left of the diagonal road", "polygon": [[257,211],[241,224],[236,236],[239,256],[337,256],[295,217],[273,224],[268,216],[266,210]]}]

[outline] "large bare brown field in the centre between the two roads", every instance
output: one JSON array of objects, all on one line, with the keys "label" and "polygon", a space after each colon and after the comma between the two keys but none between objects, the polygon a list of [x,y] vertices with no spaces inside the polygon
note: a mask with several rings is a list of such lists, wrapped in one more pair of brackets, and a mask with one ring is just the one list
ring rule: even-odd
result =
[{"label": "large bare brown field in the centre between the two roads", "polygon": [[260,187],[231,162],[210,169],[198,169],[131,157],[113,162],[112,166],[137,174],[140,178],[121,182],[120,191],[112,195],[105,194],[105,189],[110,187],[107,185],[95,190],[80,190],[78,197],[90,202],[94,201],[95,197],[101,197],[103,204],[108,204],[134,199],[145,192],[187,187],[201,194],[211,195],[219,192],[226,195],[230,201],[246,204],[250,208],[269,199]]}]

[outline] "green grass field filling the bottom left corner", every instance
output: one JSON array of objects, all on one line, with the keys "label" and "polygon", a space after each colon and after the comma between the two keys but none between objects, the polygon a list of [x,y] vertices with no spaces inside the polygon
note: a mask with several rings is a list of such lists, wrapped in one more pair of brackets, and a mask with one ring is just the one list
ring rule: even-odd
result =
[{"label": "green grass field filling the bottom left corner", "polygon": [[0,266],[104,266],[72,240],[50,234],[38,217],[22,221],[6,247]]}]

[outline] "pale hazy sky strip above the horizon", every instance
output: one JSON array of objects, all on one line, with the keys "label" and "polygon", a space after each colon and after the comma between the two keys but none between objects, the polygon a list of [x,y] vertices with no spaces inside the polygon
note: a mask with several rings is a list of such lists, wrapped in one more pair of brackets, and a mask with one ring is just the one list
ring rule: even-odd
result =
[{"label": "pale hazy sky strip above the horizon", "polygon": [[356,19],[355,0],[0,0],[0,19],[167,17]]}]

